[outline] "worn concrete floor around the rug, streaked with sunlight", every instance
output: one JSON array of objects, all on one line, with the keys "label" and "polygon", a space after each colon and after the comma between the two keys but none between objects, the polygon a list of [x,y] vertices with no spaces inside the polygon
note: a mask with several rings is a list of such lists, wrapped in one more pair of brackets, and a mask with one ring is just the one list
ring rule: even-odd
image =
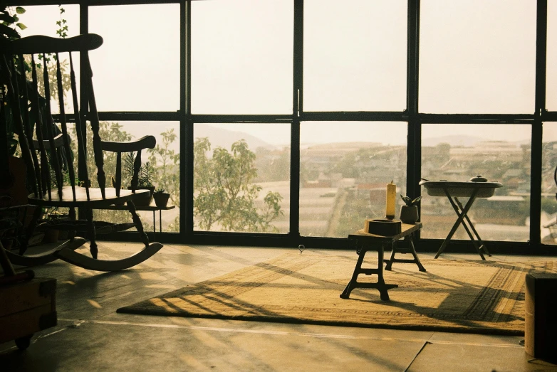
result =
[{"label": "worn concrete floor around the rug, streaked with sunlight", "polygon": [[[101,243],[99,248],[100,258],[125,257],[139,246]],[[284,252],[165,245],[150,260],[123,272],[90,272],[66,262],[35,267],[37,277],[58,281],[58,326],[35,334],[26,351],[13,341],[0,344],[0,371],[557,371],[556,365],[526,354],[518,336],[115,312]]]}]

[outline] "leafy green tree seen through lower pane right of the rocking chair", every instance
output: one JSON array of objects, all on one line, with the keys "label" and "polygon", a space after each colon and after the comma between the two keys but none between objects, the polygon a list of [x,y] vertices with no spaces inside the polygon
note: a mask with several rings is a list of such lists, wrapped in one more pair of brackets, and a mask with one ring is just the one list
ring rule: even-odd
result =
[{"label": "leafy green tree seen through lower pane right of the rocking chair", "polygon": [[283,215],[280,193],[269,191],[259,211],[255,199],[261,186],[254,184],[256,155],[241,139],[231,151],[217,147],[212,157],[207,137],[194,142],[194,216],[199,228],[211,230],[215,225],[225,231],[276,231],[271,222]]}]

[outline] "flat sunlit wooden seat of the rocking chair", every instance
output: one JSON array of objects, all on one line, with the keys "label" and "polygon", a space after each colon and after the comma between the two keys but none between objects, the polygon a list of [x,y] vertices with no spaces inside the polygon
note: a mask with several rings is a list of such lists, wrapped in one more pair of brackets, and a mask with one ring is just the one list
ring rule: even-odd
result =
[{"label": "flat sunlit wooden seat of the rocking chair", "polygon": [[58,190],[52,191],[52,198],[48,198],[48,193],[42,198],[36,197],[33,193],[28,196],[28,201],[37,206],[51,206],[51,207],[88,207],[100,208],[103,206],[110,206],[112,204],[123,204],[126,201],[135,201],[135,198],[145,196],[145,193],[150,193],[149,190],[120,190],[120,196],[116,196],[115,188],[105,188],[105,198],[100,193],[100,188],[89,188],[89,198],[85,187],[76,187],[76,200],[73,199],[73,192],[71,186],[64,186],[62,189],[62,198],[58,197]]}]

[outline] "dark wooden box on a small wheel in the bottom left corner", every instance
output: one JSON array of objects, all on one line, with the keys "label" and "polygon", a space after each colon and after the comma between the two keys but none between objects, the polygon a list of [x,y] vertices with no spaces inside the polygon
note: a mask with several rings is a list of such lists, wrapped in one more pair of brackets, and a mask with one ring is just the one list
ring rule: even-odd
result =
[{"label": "dark wooden box on a small wheel in the bottom left corner", "polygon": [[25,349],[35,332],[56,326],[56,279],[0,286],[0,343]]}]

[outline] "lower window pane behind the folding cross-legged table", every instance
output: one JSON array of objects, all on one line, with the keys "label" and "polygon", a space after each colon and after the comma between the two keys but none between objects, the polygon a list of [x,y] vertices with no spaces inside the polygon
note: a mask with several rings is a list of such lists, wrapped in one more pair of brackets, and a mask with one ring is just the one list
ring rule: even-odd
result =
[{"label": "lower window pane behind the folding cross-legged table", "polygon": [[[515,124],[423,124],[422,177],[499,181],[490,198],[477,198],[468,216],[482,240],[529,239],[531,127]],[[457,220],[449,199],[422,187],[422,238],[444,239]],[[459,198],[465,205],[468,198]],[[469,240],[459,227],[453,239]]]}]

